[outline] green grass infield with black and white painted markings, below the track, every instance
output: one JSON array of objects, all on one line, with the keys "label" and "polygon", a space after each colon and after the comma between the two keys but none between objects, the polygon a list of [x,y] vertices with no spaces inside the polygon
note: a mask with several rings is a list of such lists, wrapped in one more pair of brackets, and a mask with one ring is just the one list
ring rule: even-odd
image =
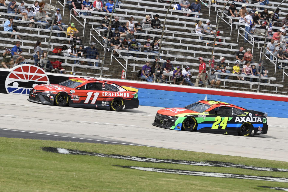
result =
[{"label": "green grass infield with black and white painted markings, below the track", "polygon": [[132,170],[115,165],[158,167],[258,176],[288,177],[287,173],[239,168],[143,163],[88,155],[44,152],[61,147],[105,154],[191,161],[223,161],[288,169],[287,162],[215,155],[141,146],[103,145],[0,137],[0,191],[274,191],[257,186],[286,187],[287,183],[248,179],[184,176]]}]

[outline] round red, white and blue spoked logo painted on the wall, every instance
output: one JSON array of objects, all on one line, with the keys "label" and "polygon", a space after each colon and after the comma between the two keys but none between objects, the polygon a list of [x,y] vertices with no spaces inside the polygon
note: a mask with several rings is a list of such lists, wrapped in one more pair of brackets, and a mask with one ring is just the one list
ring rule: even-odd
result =
[{"label": "round red, white and blue spoked logo painted on the wall", "polygon": [[5,88],[9,94],[28,95],[34,86],[46,83],[49,83],[49,79],[43,69],[24,64],[10,69],[5,80]]}]

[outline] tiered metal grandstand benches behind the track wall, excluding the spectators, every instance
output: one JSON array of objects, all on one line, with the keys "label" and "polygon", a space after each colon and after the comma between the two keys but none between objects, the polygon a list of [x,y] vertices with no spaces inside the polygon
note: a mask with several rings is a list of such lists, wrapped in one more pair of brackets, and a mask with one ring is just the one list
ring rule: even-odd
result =
[{"label": "tiered metal grandstand benches behind the track wall, excluding the spectators", "polygon": [[[8,5],[10,1],[6,1]],[[244,47],[244,50],[248,48],[252,49],[253,52],[253,62],[251,64],[257,65],[260,58],[264,54],[264,66],[268,71],[268,77],[262,78],[267,79],[268,82],[260,82],[259,77],[255,77],[254,81],[238,81],[237,77],[234,74],[228,74],[229,78],[219,78],[221,81],[221,89],[231,89],[231,90],[247,90],[253,92],[265,92],[265,93],[276,93],[287,95],[287,69],[285,65],[288,64],[286,60],[278,60],[275,57],[274,60],[270,60],[270,57],[265,55],[266,51],[262,49],[264,43],[268,44],[270,42],[270,37],[268,41],[264,42],[264,36],[250,35],[248,43],[244,42],[244,29],[243,23],[240,23],[237,18],[232,18],[227,16],[228,6],[224,8],[224,13],[221,15],[221,10],[223,8],[223,3],[227,1],[219,0],[218,4],[212,4],[211,1],[199,1],[201,4],[201,11],[198,12],[188,12],[182,10],[173,10],[175,3],[179,3],[179,0],[173,1],[171,7],[169,7],[171,0],[121,0],[119,7],[115,8],[115,12],[112,13],[112,20],[115,16],[119,17],[119,22],[126,22],[131,16],[134,17],[135,22],[143,22],[146,15],[151,15],[151,19],[154,18],[156,14],[159,15],[161,21],[160,29],[152,28],[143,28],[143,33],[135,32],[136,40],[139,45],[139,52],[126,50],[126,49],[117,49],[116,52],[119,56],[113,55],[110,49],[105,48],[103,32],[105,29],[100,29],[101,21],[104,19],[105,12],[96,12],[89,10],[79,10],[75,9],[78,16],[74,15],[73,8],[69,10],[69,3],[66,0],[60,1],[44,1],[46,3],[44,10],[48,15],[47,20],[51,21],[53,16],[53,11],[55,7],[61,9],[62,15],[62,28],[66,29],[69,27],[69,23],[73,22],[75,28],[79,31],[76,35],[81,39],[80,43],[84,48],[89,47],[92,42],[96,43],[96,48],[99,52],[99,58],[97,59],[87,59],[87,58],[72,58],[63,56],[52,55],[52,51],[57,46],[66,45],[70,47],[69,44],[70,38],[67,36],[66,32],[52,30],[50,33],[49,29],[45,29],[47,23],[39,22],[29,22],[23,21],[22,15],[15,15],[13,13],[7,13],[7,7],[0,7],[0,59],[2,59],[2,53],[5,51],[5,48],[12,48],[15,46],[16,35],[20,35],[22,40],[21,49],[23,51],[22,55],[25,57],[24,62],[29,62],[34,64],[33,55],[34,55],[34,46],[37,41],[41,41],[41,49],[43,51],[49,51],[48,58],[50,61],[62,60],[62,66],[65,68],[66,73],[76,73],[79,75],[91,75],[96,77],[108,77],[119,79],[122,76],[122,70],[125,70],[125,79],[127,80],[141,80],[139,77],[139,70],[142,69],[142,66],[146,64],[146,61],[149,60],[152,62],[152,65],[155,65],[153,61],[154,56],[158,56],[158,53],[153,52],[143,52],[144,42],[147,37],[161,39],[162,27],[164,25],[164,20],[166,13],[168,11],[164,32],[163,40],[161,42],[161,49],[159,49],[160,57],[163,60],[159,61],[159,64],[163,64],[168,58],[171,59],[171,63],[174,67],[180,66],[182,69],[185,66],[190,66],[191,72],[191,82],[195,83],[196,76],[199,69],[199,57],[203,57],[207,70],[209,69],[209,60],[211,58],[212,52],[215,55],[215,66],[220,57],[225,57],[227,64],[227,69],[232,72],[232,67],[235,63],[235,52],[239,50],[239,47]],[[94,0],[90,0],[91,4]],[[194,0],[189,0],[190,3],[195,2]],[[272,6],[266,5],[254,5],[248,4],[247,10],[249,11],[253,6],[257,7],[257,10],[262,11],[262,8],[268,8],[268,10],[274,11],[275,7],[280,4],[281,1],[275,0],[270,1]],[[33,1],[25,1],[24,6],[32,6]],[[18,1],[17,6],[20,4]],[[237,4],[241,4],[236,2]],[[285,18],[285,15],[288,13],[287,4],[280,4],[280,21]],[[168,8],[170,8],[168,10]],[[238,8],[239,9],[239,8]],[[191,13],[198,17],[184,16],[183,13]],[[18,16],[17,19],[14,19],[14,23],[18,27],[18,31],[15,32],[4,32],[3,25],[7,21],[9,16]],[[111,16],[111,13],[108,14]],[[217,22],[219,22],[218,35],[216,37],[216,42],[214,44],[214,35],[205,35],[195,33],[195,25],[202,21],[202,27],[206,25],[206,21],[211,21],[211,28],[215,33]],[[261,20],[262,21],[262,20]],[[29,27],[30,24],[34,24],[35,27]],[[256,25],[258,27],[259,25]],[[272,27],[273,31],[276,32],[277,29],[281,29],[280,26],[274,25]],[[112,30],[113,31],[113,30]],[[60,37],[57,34],[60,33]],[[10,38],[11,34],[15,37]],[[123,39],[122,39],[123,40]],[[288,39],[286,39],[288,41]],[[282,44],[283,46],[285,45]],[[110,46],[108,45],[107,48]],[[134,57],[128,56],[133,54]],[[137,54],[137,57],[135,57]],[[77,60],[80,64],[74,64],[74,60]],[[243,63],[241,63],[243,64]],[[280,67],[278,68],[278,66]],[[2,67],[2,66],[1,66]],[[57,70],[56,70],[57,72]],[[62,71],[61,71],[62,72]],[[207,72],[208,74],[208,72]],[[171,75],[165,74],[164,83],[173,83],[171,81]],[[171,86],[173,86],[171,84]],[[201,85],[205,87],[205,85]],[[208,85],[210,87],[210,85]],[[213,88],[213,87],[212,87]]]}]

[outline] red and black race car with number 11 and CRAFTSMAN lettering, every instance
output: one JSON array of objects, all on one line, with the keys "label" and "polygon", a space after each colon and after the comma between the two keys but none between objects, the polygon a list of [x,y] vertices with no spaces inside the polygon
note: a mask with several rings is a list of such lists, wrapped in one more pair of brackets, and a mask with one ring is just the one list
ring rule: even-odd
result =
[{"label": "red and black race car with number 11 and CRAFTSMAN lettering", "polygon": [[46,105],[89,107],[120,111],[138,108],[138,89],[121,87],[91,77],[76,77],[59,84],[36,85],[28,101]]}]

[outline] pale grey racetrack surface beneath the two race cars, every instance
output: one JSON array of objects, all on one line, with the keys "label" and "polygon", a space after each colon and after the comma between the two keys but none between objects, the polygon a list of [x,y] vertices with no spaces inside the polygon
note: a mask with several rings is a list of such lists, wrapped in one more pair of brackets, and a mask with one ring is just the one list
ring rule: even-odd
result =
[{"label": "pale grey racetrack surface beneath the two race cars", "polygon": [[152,126],[159,107],[140,106],[112,112],[47,106],[29,102],[27,98],[0,94],[0,137],[143,145],[288,161],[285,118],[268,116],[268,134],[241,137]]}]

